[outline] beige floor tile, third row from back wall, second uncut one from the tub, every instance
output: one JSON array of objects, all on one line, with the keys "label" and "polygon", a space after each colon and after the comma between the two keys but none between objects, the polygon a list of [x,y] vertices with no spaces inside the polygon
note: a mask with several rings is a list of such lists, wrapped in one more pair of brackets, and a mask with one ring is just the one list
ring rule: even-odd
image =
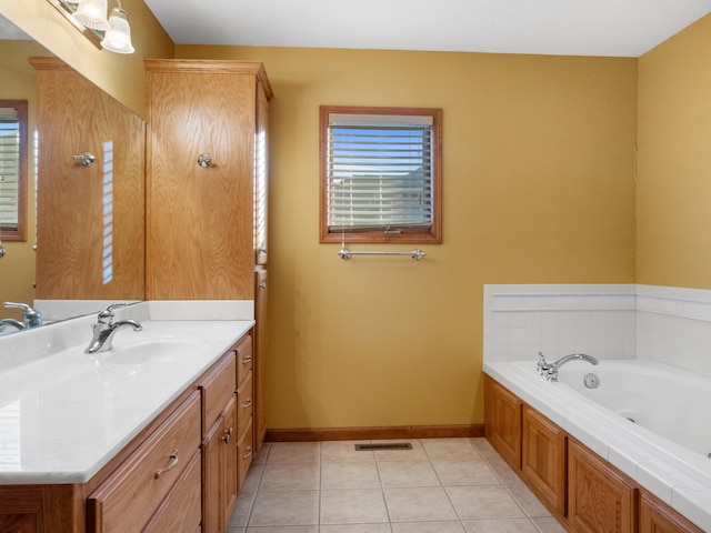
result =
[{"label": "beige floor tile, third row from back wall, second uncut one from the tub", "polygon": [[457,513],[441,486],[384,489],[392,522],[457,520]]}]

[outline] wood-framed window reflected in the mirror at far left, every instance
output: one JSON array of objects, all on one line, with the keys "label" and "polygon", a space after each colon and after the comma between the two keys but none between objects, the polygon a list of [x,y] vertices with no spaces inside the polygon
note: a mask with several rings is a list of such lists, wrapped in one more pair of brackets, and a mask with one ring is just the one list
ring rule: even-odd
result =
[{"label": "wood-framed window reflected in the mirror at far left", "polygon": [[0,100],[0,239],[27,240],[27,100]]}]

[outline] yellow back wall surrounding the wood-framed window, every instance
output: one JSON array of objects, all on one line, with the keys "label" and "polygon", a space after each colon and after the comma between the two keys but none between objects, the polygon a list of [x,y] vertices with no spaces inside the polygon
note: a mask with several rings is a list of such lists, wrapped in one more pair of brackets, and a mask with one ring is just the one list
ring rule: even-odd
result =
[{"label": "yellow back wall surrounding the wood-framed window", "polygon": [[[634,59],[177,57],[261,60],[274,90],[270,428],[482,423],[484,283],[634,281]],[[319,104],[443,108],[444,241],[423,261],[319,244]]]}]

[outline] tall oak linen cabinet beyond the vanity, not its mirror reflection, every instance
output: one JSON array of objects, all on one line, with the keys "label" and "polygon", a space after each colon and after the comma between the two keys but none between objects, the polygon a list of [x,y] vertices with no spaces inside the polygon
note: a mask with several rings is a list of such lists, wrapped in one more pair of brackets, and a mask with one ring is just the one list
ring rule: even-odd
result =
[{"label": "tall oak linen cabinet beyond the vanity, not its mirror reflection", "polygon": [[146,60],[150,300],[253,300],[253,433],[267,432],[267,177],[263,64]]}]

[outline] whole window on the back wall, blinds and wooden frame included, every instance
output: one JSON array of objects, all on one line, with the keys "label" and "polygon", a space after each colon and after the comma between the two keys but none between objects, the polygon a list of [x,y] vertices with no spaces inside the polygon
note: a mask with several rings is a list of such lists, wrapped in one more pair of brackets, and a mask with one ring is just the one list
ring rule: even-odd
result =
[{"label": "whole window on the back wall, blinds and wooden frame included", "polygon": [[321,241],[440,243],[441,109],[321,107]]}]

